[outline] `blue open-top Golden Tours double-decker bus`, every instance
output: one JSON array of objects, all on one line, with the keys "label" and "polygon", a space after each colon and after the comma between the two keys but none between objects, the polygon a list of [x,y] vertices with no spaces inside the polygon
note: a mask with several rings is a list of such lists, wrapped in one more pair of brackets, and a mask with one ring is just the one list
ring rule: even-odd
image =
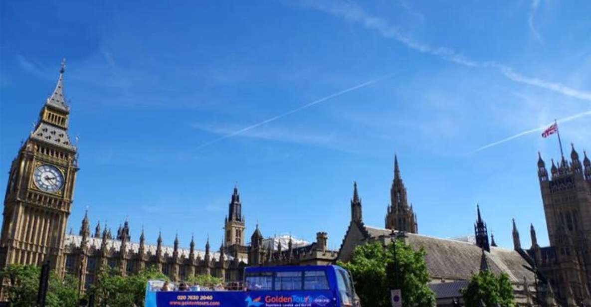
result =
[{"label": "blue open-top Golden Tours double-decker bus", "polygon": [[239,290],[163,286],[148,281],[145,307],[360,307],[349,272],[336,265],[247,267]]}]

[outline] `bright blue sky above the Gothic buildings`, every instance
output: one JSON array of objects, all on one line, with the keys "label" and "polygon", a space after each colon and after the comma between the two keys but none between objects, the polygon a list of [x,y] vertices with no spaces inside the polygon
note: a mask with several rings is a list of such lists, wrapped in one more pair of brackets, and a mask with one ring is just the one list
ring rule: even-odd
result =
[{"label": "bright blue sky above the Gothic buildings", "polygon": [[0,182],[65,56],[80,137],[74,231],[89,207],[93,226],[128,218],[134,240],[143,225],[152,243],[161,230],[165,244],[178,231],[183,246],[191,233],[219,246],[238,182],[248,237],[259,221],[265,236],[327,231],[338,249],[353,181],[364,221],[384,226],[396,152],[420,233],[473,234],[478,203],[499,245],[512,247],[511,218],[524,246],[530,223],[547,244],[536,162],[538,151],[548,163],[560,155],[556,138],[477,149],[569,118],[565,149],[591,151],[590,10],[3,1]]}]

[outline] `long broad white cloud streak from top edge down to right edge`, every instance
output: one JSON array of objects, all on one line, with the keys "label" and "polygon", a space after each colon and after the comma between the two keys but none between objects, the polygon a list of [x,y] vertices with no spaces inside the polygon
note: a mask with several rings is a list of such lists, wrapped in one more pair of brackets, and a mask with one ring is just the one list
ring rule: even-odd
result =
[{"label": "long broad white cloud streak from top edge down to right edge", "polygon": [[524,76],[520,73],[517,73],[512,67],[506,66],[495,61],[471,60],[470,58],[457,52],[453,48],[432,46],[430,44],[414,40],[407,34],[404,34],[399,27],[390,24],[384,18],[375,17],[373,15],[368,14],[353,2],[308,1],[304,2],[304,4],[307,7],[343,18],[346,21],[361,24],[363,25],[363,27],[368,28],[369,30],[377,31],[383,37],[397,40],[406,47],[411,48],[420,53],[431,54],[443,60],[451,61],[453,63],[457,63],[466,67],[493,68],[500,71],[503,74],[503,76],[505,76],[509,80],[518,83],[528,84],[530,86],[540,87],[542,89],[564,94],[566,96],[574,97],[576,99],[591,101],[591,92],[573,89],[571,87],[564,86],[561,83],[546,81],[536,77]]}]

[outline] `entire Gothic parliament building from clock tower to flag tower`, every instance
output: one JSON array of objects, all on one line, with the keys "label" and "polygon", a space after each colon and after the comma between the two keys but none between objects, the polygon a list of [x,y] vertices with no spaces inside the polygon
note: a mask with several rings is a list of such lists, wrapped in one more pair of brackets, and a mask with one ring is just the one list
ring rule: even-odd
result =
[{"label": "entire Gothic parliament building from clock tower to flag tower", "polygon": [[139,240],[134,241],[127,221],[116,233],[99,223],[93,227],[87,214],[76,233],[66,231],[79,168],[77,148],[68,134],[70,107],[64,99],[63,84],[64,64],[56,88],[10,165],[0,234],[0,268],[48,261],[60,275],[77,276],[80,290],[92,285],[98,272],[107,267],[122,275],[155,266],[172,280],[207,274],[233,281],[242,279],[245,266],[346,262],[356,246],[374,241],[388,244],[395,237],[426,250],[430,286],[436,292],[438,305],[455,299],[445,296],[453,292],[450,289],[456,289],[457,294],[473,273],[489,269],[508,274],[519,305],[591,306],[591,161],[586,152],[580,157],[574,146],[570,161],[564,157],[552,161],[550,172],[541,156],[538,158],[538,180],[550,237],[547,247],[538,245],[533,225],[531,247],[522,246],[515,221],[514,248],[496,246],[494,237],[489,238],[480,208],[473,225],[474,242],[419,234],[417,215],[408,202],[395,158],[384,227],[365,224],[360,193],[354,184],[351,218],[338,252],[327,249],[324,232],[317,233],[313,243],[291,236],[265,239],[258,225],[250,243],[246,243],[245,216],[236,187],[223,221],[224,239],[219,249],[212,250],[209,239],[203,250],[197,249],[193,237],[187,249],[179,246],[178,236],[173,246],[165,246],[161,236],[157,244],[148,244],[143,230]]}]

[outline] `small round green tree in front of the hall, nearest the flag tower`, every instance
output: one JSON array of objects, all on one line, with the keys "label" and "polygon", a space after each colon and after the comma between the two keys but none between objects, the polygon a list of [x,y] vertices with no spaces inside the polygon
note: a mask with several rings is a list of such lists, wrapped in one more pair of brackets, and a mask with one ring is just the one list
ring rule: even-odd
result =
[{"label": "small round green tree in front of the hall, nearest the flag tower", "polygon": [[506,273],[495,276],[490,270],[482,270],[472,275],[462,295],[467,307],[476,307],[480,302],[486,306],[515,306],[513,287]]}]

